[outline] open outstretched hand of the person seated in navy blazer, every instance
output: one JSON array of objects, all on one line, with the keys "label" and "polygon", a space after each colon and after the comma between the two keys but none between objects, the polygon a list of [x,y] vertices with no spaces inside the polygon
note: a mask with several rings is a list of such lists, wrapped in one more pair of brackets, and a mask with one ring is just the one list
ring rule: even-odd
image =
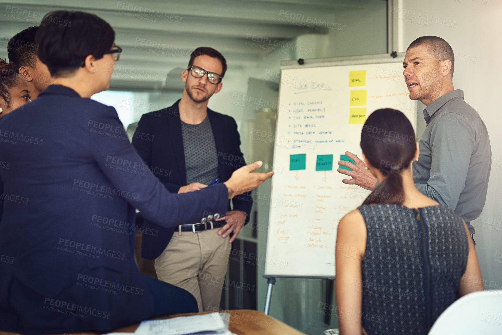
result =
[{"label": "open outstretched hand of the person seated in navy blazer", "polygon": [[228,198],[248,192],[274,175],[273,171],[267,173],[253,172],[263,165],[262,161],[253,164],[244,165],[233,171],[230,179],[224,182],[228,189]]}]

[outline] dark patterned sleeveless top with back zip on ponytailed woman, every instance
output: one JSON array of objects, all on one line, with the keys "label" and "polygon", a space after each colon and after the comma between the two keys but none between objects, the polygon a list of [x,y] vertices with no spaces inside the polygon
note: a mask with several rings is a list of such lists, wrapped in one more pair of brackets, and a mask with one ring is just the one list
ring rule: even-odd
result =
[{"label": "dark patterned sleeveless top with back zip on ponytailed woman", "polygon": [[367,230],[362,326],[368,335],[427,334],[456,299],[469,246],[463,222],[445,205],[416,209],[362,205]]}]

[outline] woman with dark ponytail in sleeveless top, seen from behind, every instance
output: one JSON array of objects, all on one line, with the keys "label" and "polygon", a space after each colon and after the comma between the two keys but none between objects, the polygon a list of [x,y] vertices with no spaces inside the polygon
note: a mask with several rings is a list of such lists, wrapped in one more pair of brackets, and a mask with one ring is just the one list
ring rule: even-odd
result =
[{"label": "woman with dark ponytail in sleeveless top, seen from behind", "polygon": [[460,216],[415,188],[419,147],[403,113],[375,110],[360,146],[378,184],[338,225],[340,334],[425,335],[457,298],[483,290],[474,244]]}]

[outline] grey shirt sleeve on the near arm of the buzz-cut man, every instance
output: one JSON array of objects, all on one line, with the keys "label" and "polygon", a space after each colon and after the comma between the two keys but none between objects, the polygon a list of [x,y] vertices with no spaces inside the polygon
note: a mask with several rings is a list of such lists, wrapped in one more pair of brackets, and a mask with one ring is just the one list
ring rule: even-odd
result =
[{"label": "grey shirt sleeve on the near arm of the buzz-cut man", "polygon": [[435,122],[430,144],[432,157],[429,180],[425,184],[416,183],[415,186],[431,199],[455,209],[465,186],[475,145],[474,130],[464,117],[446,113]]}]

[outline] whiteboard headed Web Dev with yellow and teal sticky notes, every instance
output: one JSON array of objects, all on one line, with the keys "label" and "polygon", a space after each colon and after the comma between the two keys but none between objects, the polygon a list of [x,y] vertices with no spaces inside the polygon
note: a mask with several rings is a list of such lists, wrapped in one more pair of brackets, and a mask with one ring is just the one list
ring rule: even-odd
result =
[{"label": "whiteboard headed Web Dev with yellow and teal sticky notes", "polygon": [[333,278],[338,222],[370,193],[342,183],[340,155],[361,157],[362,126],[375,109],[399,109],[415,129],[404,54],[379,56],[281,63],[273,166],[282,173],[272,178],[266,276]]}]

